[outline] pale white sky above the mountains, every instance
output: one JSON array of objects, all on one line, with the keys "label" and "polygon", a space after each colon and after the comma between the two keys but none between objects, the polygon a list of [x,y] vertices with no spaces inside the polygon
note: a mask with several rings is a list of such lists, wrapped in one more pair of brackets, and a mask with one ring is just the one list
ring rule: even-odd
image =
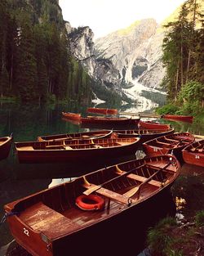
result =
[{"label": "pale white sky above the mountains", "polygon": [[64,20],[72,27],[89,26],[94,39],[118,29],[125,29],[136,20],[154,18],[161,23],[184,0],[60,0]]}]

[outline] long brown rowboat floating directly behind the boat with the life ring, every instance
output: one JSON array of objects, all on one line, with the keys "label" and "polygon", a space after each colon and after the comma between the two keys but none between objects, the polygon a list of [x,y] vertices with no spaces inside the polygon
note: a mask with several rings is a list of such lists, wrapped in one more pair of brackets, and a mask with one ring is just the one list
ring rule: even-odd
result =
[{"label": "long brown rowboat floating directly behind the boat with the life ring", "polygon": [[63,141],[15,142],[20,163],[96,161],[120,155],[132,155],[140,138],[100,138]]}]

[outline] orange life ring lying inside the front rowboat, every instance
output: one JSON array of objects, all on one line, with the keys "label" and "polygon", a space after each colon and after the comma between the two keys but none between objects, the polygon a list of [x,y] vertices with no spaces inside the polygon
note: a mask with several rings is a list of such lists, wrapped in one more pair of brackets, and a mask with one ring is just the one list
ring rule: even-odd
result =
[{"label": "orange life ring lying inside the front rowboat", "polygon": [[99,195],[79,195],[76,205],[83,210],[99,210],[104,208],[104,199]]}]

